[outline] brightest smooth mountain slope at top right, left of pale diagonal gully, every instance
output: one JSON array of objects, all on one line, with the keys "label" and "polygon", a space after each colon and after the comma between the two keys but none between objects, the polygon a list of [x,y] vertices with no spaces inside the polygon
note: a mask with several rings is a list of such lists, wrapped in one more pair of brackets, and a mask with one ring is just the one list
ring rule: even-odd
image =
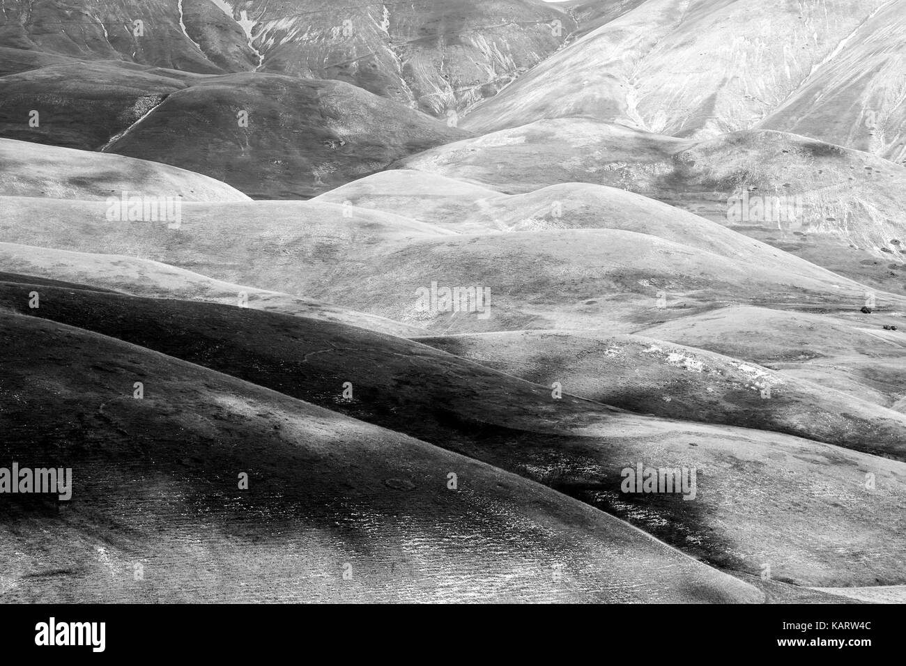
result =
[{"label": "brightest smooth mountain slope at top right, left of pale diagonal gully", "polygon": [[882,13],[889,23],[901,12],[900,0],[648,0],[555,53],[463,126],[585,116],[677,137],[748,130],[848,43],[858,52],[885,25]]}]

